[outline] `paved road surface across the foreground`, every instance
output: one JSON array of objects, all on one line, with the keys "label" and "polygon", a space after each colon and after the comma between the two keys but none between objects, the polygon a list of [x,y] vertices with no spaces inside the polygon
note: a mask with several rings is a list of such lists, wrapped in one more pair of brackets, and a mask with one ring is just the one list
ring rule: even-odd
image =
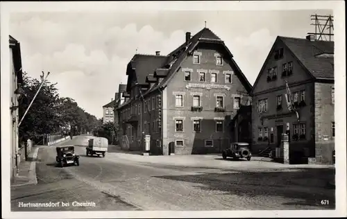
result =
[{"label": "paved road surface across the foreground", "polygon": [[[38,183],[11,189],[12,211],[335,208],[334,189],[305,184],[305,179],[332,174],[332,170],[247,170],[233,168],[231,161],[228,169],[143,164],[119,159],[112,152],[87,157],[83,147],[87,138],[62,143],[75,145],[80,166],[57,167],[55,147],[42,146],[36,164]],[[35,203],[55,205],[28,206]]]}]

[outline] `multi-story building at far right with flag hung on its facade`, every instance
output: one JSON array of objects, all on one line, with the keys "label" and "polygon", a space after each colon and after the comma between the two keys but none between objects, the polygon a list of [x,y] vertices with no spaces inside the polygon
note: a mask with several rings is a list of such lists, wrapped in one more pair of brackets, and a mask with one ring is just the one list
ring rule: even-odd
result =
[{"label": "multi-story building at far right with flag hung on its facade", "polygon": [[[287,104],[286,82],[292,107]],[[253,150],[280,146],[289,135],[289,159],[331,164],[335,150],[334,42],[276,38],[255,80]],[[298,114],[296,114],[298,112]]]}]

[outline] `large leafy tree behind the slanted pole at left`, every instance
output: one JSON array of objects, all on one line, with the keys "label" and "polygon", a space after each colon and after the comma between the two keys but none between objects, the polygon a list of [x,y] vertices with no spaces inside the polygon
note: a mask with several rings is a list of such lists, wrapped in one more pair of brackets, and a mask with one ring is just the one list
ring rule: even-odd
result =
[{"label": "large leafy tree behind the slanted pole at left", "polygon": [[[44,73],[42,73],[40,79],[31,78],[24,72],[23,89],[26,98],[20,100],[19,119],[22,119],[24,116],[24,112],[28,109],[31,100],[33,100],[42,84]],[[38,143],[37,137],[42,137],[46,134],[62,133],[63,128],[68,127],[69,130],[81,133],[91,131],[97,126],[96,117],[85,112],[74,99],[69,97],[61,98],[56,85],[57,83],[52,84],[48,80],[42,85],[26,117],[19,126],[20,141],[26,141],[26,139],[30,138]]]}]

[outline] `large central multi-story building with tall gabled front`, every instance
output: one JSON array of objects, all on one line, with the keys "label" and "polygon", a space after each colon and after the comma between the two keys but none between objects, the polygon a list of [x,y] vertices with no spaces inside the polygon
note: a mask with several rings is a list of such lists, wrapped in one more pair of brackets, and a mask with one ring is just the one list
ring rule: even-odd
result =
[{"label": "large central multi-story building with tall gabled front", "polygon": [[235,141],[230,122],[249,105],[251,85],[224,42],[208,28],[169,55],[134,55],[125,103],[117,108],[123,148],[156,155],[220,152]]}]

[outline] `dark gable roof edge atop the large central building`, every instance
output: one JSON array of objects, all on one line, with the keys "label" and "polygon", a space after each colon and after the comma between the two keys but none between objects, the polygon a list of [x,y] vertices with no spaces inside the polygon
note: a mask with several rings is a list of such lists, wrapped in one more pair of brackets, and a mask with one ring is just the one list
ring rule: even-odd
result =
[{"label": "dark gable roof edge atop the large central building", "polygon": [[[212,32],[212,30],[210,30],[209,28],[203,28],[198,33],[196,33],[196,35],[194,35],[188,42],[181,44],[180,46],[178,46],[177,49],[169,53],[169,55],[167,56],[167,62],[161,68],[167,69],[167,76],[162,80],[162,82],[153,86],[152,89],[149,89],[149,91],[147,91],[146,94],[149,94],[151,91],[159,89],[160,87],[166,87],[171,78],[174,77],[174,74],[177,71],[178,67],[180,67],[180,64],[187,58],[187,55],[189,55],[189,53],[192,53],[192,51],[194,51],[194,48],[198,45],[199,42],[214,42],[217,44],[221,44],[228,52],[230,60],[236,68],[237,76],[239,76],[240,80],[243,82],[244,86],[246,87],[246,90],[251,91],[251,84],[248,82],[241,69],[239,69],[235,60],[232,59],[232,53],[230,53],[228,47],[219,37],[217,37],[217,35],[215,35]],[[160,71],[162,71],[161,69]],[[158,70],[156,70],[156,74],[158,74]]]}]

